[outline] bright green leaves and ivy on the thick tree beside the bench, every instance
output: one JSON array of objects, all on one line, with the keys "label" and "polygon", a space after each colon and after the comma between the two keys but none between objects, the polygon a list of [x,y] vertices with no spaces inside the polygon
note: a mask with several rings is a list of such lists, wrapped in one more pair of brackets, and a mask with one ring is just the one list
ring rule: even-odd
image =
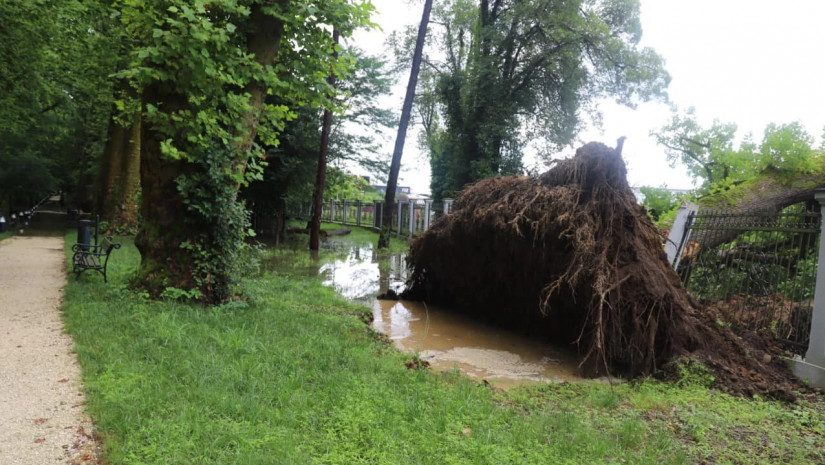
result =
[{"label": "bright green leaves and ivy on the thick tree beside the bench", "polygon": [[[249,231],[238,190],[263,179],[266,148],[278,145],[297,108],[338,107],[326,76],[345,77],[353,61],[332,56],[330,29],[346,37],[371,11],[347,0],[122,4],[134,50],[118,77],[143,89],[141,161],[153,165],[142,166],[142,181],[156,186],[144,187],[138,235],[139,279],[152,292],[188,290],[194,280],[204,301],[230,297]],[[180,199],[169,199],[172,184]],[[163,215],[149,214],[163,202],[183,204],[171,213],[182,227],[164,228]],[[162,265],[170,258],[175,269]]]}]

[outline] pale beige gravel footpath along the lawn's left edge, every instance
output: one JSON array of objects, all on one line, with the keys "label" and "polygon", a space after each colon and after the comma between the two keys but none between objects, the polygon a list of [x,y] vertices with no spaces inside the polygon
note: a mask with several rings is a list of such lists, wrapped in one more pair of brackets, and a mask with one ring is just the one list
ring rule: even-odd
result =
[{"label": "pale beige gravel footpath along the lawn's left edge", "polygon": [[63,330],[62,237],[0,241],[0,464],[98,463]]}]

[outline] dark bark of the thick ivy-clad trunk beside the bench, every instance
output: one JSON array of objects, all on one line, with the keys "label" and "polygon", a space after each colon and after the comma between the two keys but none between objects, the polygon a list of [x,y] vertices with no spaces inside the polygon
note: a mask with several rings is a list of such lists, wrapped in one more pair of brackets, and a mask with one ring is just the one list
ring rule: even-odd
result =
[{"label": "dark bark of the thick ivy-clad trunk beside the bench", "polygon": [[[279,3],[286,3],[280,0]],[[261,5],[252,7],[250,15],[250,36],[246,53],[251,53],[261,65],[271,65],[278,53],[284,23],[274,16],[266,15]],[[238,129],[239,142],[233,150],[233,169],[243,171],[248,152],[255,139],[258,121],[263,108],[267,87],[262,82],[250,82],[244,88],[249,93],[252,110],[241,118]],[[187,107],[186,95],[176,88],[163,83],[154,83],[144,89],[144,107],[153,104],[166,112]],[[141,131],[141,229],[135,239],[141,254],[138,270],[140,282],[151,295],[159,295],[167,287],[182,290],[198,289],[202,299],[219,302],[228,297],[226,276],[197,276],[199,260],[203,251],[197,248],[183,248],[184,243],[200,244],[204,236],[212,234],[219,225],[204,225],[197,213],[188,209],[178,190],[177,179],[191,176],[199,167],[194,163],[171,160],[161,152],[161,141],[168,136],[143,122]],[[237,191],[239,186],[234,186]],[[223,225],[223,227],[236,227]],[[207,243],[204,247],[210,247]],[[207,251],[208,252],[208,251]],[[213,270],[223,273],[225,270]]]}]

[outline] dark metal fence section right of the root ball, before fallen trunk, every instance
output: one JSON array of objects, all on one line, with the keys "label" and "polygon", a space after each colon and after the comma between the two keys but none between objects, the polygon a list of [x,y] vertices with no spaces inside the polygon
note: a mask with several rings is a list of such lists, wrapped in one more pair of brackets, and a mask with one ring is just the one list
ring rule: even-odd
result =
[{"label": "dark metal fence section right of the root ball, before fallen trunk", "polygon": [[804,354],[820,223],[820,213],[805,204],[779,213],[692,213],[677,244],[676,269],[688,292],[715,308],[724,323],[769,330]]}]

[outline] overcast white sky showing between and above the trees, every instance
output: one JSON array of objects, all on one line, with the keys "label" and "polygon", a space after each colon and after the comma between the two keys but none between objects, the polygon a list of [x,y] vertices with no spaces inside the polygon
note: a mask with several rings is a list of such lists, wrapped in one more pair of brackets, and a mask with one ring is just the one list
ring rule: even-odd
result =
[{"label": "overcast white sky showing between and above the trees", "polygon": [[[439,0],[435,0],[438,2]],[[383,32],[356,36],[369,53],[385,53],[383,36],[421,19],[421,1],[372,0],[374,20]],[[671,74],[670,101],[697,116],[739,126],[760,141],[769,123],[800,122],[821,141],[825,127],[825,0],[641,0],[642,45],[665,58]],[[399,77],[390,101],[400,113],[407,75]],[[664,104],[640,104],[631,110],[612,102],[600,106],[603,133],[593,129],[581,140],[614,145],[627,136],[624,157],[631,185],[690,188],[681,167],[671,169],[662,149],[649,136],[670,119]],[[392,153],[394,134],[387,142]],[[569,156],[573,148],[563,151]],[[401,185],[429,192],[429,163],[410,131],[402,160]],[[542,169],[543,171],[543,169]]]}]

